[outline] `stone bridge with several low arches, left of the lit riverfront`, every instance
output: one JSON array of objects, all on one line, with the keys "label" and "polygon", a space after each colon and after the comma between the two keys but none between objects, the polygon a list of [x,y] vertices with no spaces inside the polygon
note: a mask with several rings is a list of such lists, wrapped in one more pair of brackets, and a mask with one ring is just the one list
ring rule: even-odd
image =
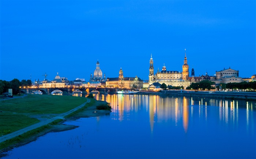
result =
[{"label": "stone bridge with several low arches, left of the lit riverfront", "polygon": [[72,94],[74,90],[80,90],[82,91],[82,94],[89,94],[91,91],[99,92],[99,94],[114,94],[118,90],[117,88],[26,88],[26,89],[20,89],[21,92],[31,94],[33,91],[41,91],[43,94],[51,94],[54,90],[61,90],[63,92],[63,95],[69,95]]}]

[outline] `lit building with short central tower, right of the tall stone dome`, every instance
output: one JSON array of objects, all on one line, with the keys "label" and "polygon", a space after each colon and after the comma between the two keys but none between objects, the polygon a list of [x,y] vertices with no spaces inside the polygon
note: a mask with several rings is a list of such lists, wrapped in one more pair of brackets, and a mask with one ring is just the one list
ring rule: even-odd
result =
[{"label": "lit building with short central tower, right of the tall stone dome", "polygon": [[122,68],[119,71],[119,76],[114,78],[107,78],[106,87],[120,87],[126,89],[140,89],[143,88],[143,80],[139,77],[124,77]]}]

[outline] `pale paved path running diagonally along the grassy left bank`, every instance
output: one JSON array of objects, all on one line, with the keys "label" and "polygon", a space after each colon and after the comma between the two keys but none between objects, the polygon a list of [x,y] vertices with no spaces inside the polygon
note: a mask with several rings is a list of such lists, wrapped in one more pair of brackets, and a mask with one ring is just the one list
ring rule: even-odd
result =
[{"label": "pale paved path running diagonally along the grassy left bank", "polygon": [[87,99],[87,101],[85,103],[81,104],[80,106],[78,106],[78,107],[76,107],[76,108],[74,108],[74,109],[72,109],[72,110],[70,110],[68,112],[59,114],[57,116],[54,116],[53,118],[50,118],[50,119],[47,119],[47,120],[44,120],[44,121],[40,121],[39,123],[36,123],[36,124],[31,125],[31,126],[25,127],[25,128],[20,129],[18,131],[12,132],[11,134],[0,136],[0,143],[4,142],[5,140],[11,139],[11,138],[15,138],[15,137],[17,137],[19,135],[22,135],[25,132],[28,132],[28,131],[34,130],[36,128],[39,128],[41,126],[47,125],[47,124],[53,122],[54,120],[64,119],[65,116],[67,116],[67,115],[71,114],[72,112],[75,112],[78,109],[84,107],[85,104],[89,103],[90,101],[91,101],[90,99]]}]

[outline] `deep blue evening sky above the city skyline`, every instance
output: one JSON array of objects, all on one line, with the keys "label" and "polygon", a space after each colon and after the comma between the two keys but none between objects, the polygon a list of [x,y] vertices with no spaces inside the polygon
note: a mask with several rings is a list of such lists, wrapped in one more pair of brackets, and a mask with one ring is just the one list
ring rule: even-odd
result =
[{"label": "deep blue evening sky above the city skyline", "polygon": [[154,72],[256,73],[255,0],[1,0],[0,79],[89,80],[99,60],[106,77]]}]

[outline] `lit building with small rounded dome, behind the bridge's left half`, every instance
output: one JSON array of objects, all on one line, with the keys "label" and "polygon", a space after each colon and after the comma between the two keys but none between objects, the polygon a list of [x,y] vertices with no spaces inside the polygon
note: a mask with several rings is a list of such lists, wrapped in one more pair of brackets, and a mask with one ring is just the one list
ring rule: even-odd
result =
[{"label": "lit building with small rounded dome, behind the bridge's left half", "polygon": [[66,77],[60,77],[59,73],[57,73],[52,81],[45,79],[39,88],[64,88],[68,84],[68,79]]}]

